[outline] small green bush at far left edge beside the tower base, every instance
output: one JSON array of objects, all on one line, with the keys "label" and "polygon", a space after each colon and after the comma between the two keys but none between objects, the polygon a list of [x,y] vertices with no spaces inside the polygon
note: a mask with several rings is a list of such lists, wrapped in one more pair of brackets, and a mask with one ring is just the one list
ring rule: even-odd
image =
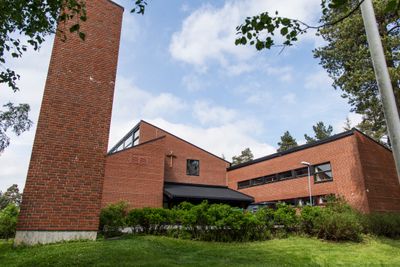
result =
[{"label": "small green bush at far left edge beside the tower base", "polygon": [[15,236],[19,209],[15,204],[8,204],[0,210],[0,239],[8,239]]}]

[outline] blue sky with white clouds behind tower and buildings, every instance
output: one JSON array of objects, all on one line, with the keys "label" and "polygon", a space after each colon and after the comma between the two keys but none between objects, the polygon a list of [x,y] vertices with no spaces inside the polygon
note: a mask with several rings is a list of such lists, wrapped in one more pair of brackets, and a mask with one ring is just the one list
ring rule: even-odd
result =
[{"label": "blue sky with white clouds behind tower and buildings", "polygon": [[[324,121],[341,132],[358,116],[331,86],[312,56],[323,44],[313,33],[279,54],[234,45],[247,16],[279,10],[317,24],[320,0],[151,0],[144,16],[125,7],[109,147],[140,119],[229,160],[246,147],[256,157],[274,153],[289,130],[299,143]],[[39,52],[11,62],[21,91],[1,85],[0,103],[29,103],[36,123],[53,37]],[[36,127],[0,155],[0,190],[25,184]]]}]

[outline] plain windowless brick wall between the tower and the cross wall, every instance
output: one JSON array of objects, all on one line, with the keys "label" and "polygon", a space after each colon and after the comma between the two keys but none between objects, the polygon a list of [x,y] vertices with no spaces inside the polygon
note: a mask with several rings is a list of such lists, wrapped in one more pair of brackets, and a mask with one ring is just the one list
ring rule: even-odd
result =
[{"label": "plain windowless brick wall between the tower and the cross wall", "polygon": [[165,137],[109,155],[102,206],[126,201],[131,208],[162,207]]}]

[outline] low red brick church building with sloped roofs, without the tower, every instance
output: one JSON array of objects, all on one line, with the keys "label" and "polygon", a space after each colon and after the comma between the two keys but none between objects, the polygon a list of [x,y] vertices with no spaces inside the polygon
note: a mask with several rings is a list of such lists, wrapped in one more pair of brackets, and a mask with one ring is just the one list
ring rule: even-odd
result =
[{"label": "low red brick church building with sloped roofs, without the tower", "polygon": [[145,121],[109,152],[102,205],[125,200],[132,207],[167,207],[203,199],[238,206],[252,201],[305,205],[310,191],[313,205],[336,195],[363,212],[400,210],[391,151],[358,130],[230,166]]}]

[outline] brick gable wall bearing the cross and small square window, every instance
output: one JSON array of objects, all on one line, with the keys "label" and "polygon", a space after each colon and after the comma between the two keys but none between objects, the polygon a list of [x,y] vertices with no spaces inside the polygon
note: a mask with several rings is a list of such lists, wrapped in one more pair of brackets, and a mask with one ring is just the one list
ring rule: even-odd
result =
[{"label": "brick gable wall bearing the cross and small square window", "polygon": [[[229,163],[147,122],[140,124],[140,142],[166,136],[165,155],[171,151],[172,161],[165,157],[165,180],[168,182],[226,185],[226,168]],[[200,161],[200,175],[186,175],[187,159]]]}]

